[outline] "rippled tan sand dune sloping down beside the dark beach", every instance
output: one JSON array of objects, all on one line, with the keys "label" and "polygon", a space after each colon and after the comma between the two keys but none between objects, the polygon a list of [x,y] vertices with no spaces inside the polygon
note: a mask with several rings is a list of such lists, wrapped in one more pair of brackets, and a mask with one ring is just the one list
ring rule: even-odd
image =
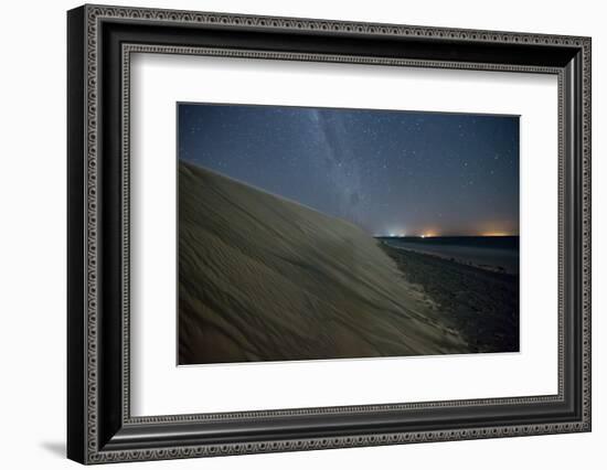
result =
[{"label": "rippled tan sand dune sloping down beside the dark beach", "polygon": [[180,162],[180,364],[467,348],[359,227]]}]

